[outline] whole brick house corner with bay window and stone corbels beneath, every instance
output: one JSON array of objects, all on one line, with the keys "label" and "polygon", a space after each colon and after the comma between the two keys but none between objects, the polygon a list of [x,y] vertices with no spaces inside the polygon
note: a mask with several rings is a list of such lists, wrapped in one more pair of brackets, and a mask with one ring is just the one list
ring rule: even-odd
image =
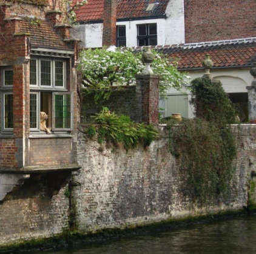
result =
[{"label": "whole brick house corner with bay window and stone corbels beneath", "polygon": [[[76,163],[77,41],[61,8],[0,4],[0,201],[25,179],[58,193]],[[50,134],[41,131],[41,112]]]}]

